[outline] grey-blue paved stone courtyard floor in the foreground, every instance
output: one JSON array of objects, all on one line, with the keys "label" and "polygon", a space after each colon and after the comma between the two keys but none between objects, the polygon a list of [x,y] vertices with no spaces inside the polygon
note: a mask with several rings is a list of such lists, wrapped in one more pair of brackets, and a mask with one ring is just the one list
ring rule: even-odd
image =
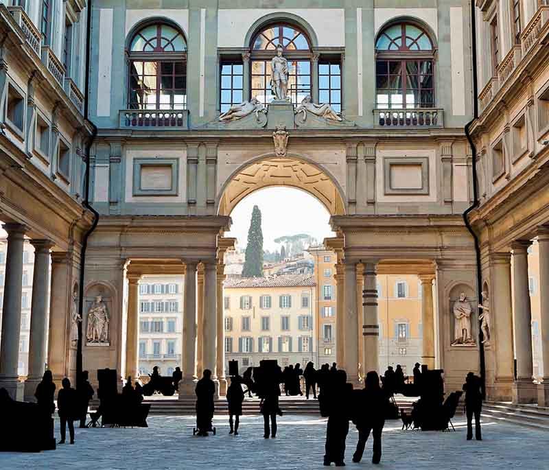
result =
[{"label": "grey-blue paved stone courtyard floor in the foreground", "polygon": [[[239,436],[229,436],[225,416],[215,416],[217,436],[192,435],[194,419],[153,416],[148,429],[76,430],[75,445],[40,454],[0,454],[0,469],[322,469],[325,420],[283,416],[276,439],[264,439],[261,416],[244,416]],[[5,423],[6,425],[7,423]],[[388,421],[382,465],[371,463],[371,443],[360,464],[351,456],[354,428],[347,436],[351,469],[544,469],[549,432],[504,423],[484,423],[484,440],[465,440],[463,418],[456,432],[401,431]],[[59,422],[56,420],[56,435]],[[5,429],[5,427],[4,427]]]}]

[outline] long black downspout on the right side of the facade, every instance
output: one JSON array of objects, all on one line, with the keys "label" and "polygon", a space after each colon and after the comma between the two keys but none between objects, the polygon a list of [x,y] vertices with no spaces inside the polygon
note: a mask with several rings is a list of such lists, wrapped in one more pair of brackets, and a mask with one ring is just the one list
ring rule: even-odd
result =
[{"label": "long black downspout on the right side of the facade", "polygon": [[[471,0],[471,54],[473,62],[473,119],[465,124],[465,135],[471,145],[471,152],[473,156],[473,204],[465,210],[463,213],[463,220],[465,226],[475,242],[475,254],[476,254],[476,282],[478,285],[478,305],[482,303],[482,271],[480,269],[480,244],[478,243],[478,237],[473,231],[471,224],[469,223],[469,213],[478,207],[478,186],[477,186],[477,174],[476,174],[476,147],[471,139],[470,128],[474,121],[478,119],[478,83],[477,83],[477,56],[476,56],[476,8],[475,2]],[[486,358],[484,356],[484,340],[482,331],[480,329],[480,321],[478,325],[478,353],[479,353],[479,366],[480,366],[480,379],[482,381],[482,398],[486,399]]]}]

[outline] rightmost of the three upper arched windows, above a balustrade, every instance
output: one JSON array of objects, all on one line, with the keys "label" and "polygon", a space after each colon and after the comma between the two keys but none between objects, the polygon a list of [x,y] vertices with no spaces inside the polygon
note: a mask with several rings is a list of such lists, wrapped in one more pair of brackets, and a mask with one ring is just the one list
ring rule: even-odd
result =
[{"label": "rightmost of the three upper arched windows, above a balustrade", "polygon": [[433,108],[434,45],[417,25],[386,27],[375,43],[377,108]]}]

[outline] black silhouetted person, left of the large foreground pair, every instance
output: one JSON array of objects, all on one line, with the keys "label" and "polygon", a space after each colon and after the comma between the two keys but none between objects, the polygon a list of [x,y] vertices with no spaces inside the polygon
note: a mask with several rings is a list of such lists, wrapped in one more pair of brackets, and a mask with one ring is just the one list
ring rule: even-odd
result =
[{"label": "black silhouetted person, left of the large foreground pair", "polygon": [[341,369],[331,374],[330,380],[331,384],[323,399],[327,401],[323,408],[328,414],[324,465],[329,466],[334,462],[336,467],[343,467],[353,386],[347,384],[347,374]]}]

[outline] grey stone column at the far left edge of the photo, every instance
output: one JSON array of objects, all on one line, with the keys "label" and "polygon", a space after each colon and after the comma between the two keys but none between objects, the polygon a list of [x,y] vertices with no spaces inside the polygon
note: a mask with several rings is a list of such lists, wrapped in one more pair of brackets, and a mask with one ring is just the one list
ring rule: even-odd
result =
[{"label": "grey stone column at the far left edge of the photo", "polygon": [[[2,339],[0,342],[0,388],[10,397],[21,399],[19,386],[19,339],[21,337],[21,292],[23,287],[23,244],[26,227],[3,224],[8,232],[8,254],[5,258]],[[19,391],[18,391],[19,389]]]}]

